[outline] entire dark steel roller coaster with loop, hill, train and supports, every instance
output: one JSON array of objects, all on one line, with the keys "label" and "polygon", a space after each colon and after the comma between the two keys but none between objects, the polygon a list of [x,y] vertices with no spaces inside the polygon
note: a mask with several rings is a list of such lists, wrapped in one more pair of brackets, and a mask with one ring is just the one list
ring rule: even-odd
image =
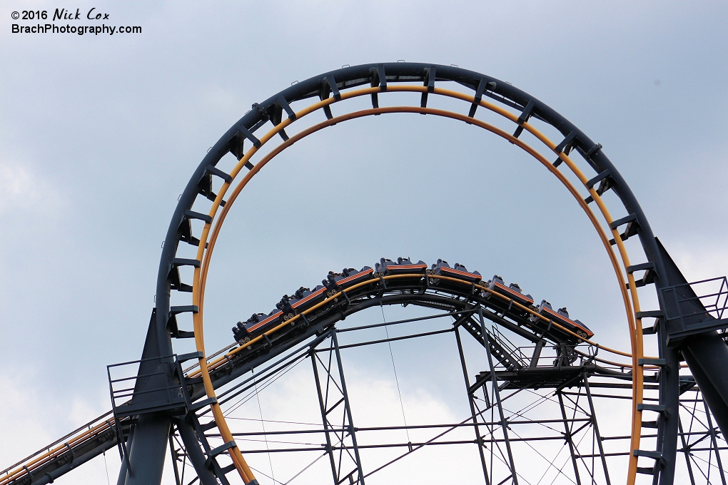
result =
[{"label": "entire dark steel roller coaster with loop, hill, train and supports", "polygon": [[[412,103],[380,105],[392,92]],[[462,103],[462,111],[433,108],[436,97]],[[371,108],[347,111],[357,98],[370,100]],[[484,281],[463,265],[400,257],[331,272],[320,287],[285,295],[270,313],[241,318],[233,342],[208,354],[207,273],[242,190],[298,140],[389,113],[479,127],[556,177],[590,220],[614,268],[630,351],[600,345],[590,322],[571,319],[566,308],[553,310],[546,300],[534,305],[500,276]],[[323,121],[310,121],[315,116]],[[219,162],[227,153],[236,163],[223,170]],[[607,191],[616,197],[604,199]],[[613,212],[607,200],[619,201]],[[210,148],[181,194],[157,274],[141,359],[108,366],[111,411],[9,466],[0,485],[52,483],[114,448],[122,457],[119,485],[159,484],[167,452],[178,485],[321,483],[325,478],[310,473],[322,463],[335,484],[378,483],[408,457],[443,446],[469,450],[478,469],[472,481],[487,485],[726,484],[727,279],[689,283],[602,146],[541,101],[490,76],[453,65],[345,66],[253,104]],[[641,308],[645,292],[657,295],[658,308]],[[183,299],[186,304],[173,304]],[[399,305],[419,310],[387,321],[384,309]],[[346,321],[377,307],[382,321]],[[183,315],[191,316],[192,329],[182,328]],[[385,330],[383,338],[372,338],[376,329]],[[389,329],[400,331],[391,336]],[[644,355],[645,337],[655,339],[657,356]],[[188,338],[197,350],[175,353],[174,342]],[[467,414],[454,422],[358,424],[342,355],[432,339],[456,349]],[[240,405],[304,361],[312,367],[320,422],[291,421],[267,431],[241,427],[250,416],[234,416]],[[620,409],[625,430],[598,419],[605,406]],[[407,441],[392,439],[395,430],[405,430]],[[296,463],[293,457],[306,458],[280,481],[257,461],[277,453]],[[446,468],[433,466],[432,481],[446,482]]]}]

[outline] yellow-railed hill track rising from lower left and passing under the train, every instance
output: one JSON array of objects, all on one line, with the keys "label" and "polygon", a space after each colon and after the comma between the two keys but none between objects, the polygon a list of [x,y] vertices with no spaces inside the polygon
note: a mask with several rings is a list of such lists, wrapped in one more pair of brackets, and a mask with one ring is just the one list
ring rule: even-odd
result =
[{"label": "yellow-railed hill track rising from lower left and passing under the train", "polygon": [[[492,295],[492,296],[491,296]],[[422,275],[421,273],[403,273],[396,276],[381,276],[337,292],[321,302],[285,321],[277,329],[270,332],[266,342],[256,339],[248,345],[236,346],[207,364],[215,388],[220,388],[242,374],[250,372],[253,366],[277,356],[293,345],[309,340],[313,335],[323,334],[329,327],[349,315],[366,308],[380,305],[417,305],[445,311],[456,318],[455,325],[462,326],[480,344],[484,345],[480,324],[473,316],[480,308],[488,320],[514,332],[531,342],[546,342],[555,345],[574,346],[578,340],[584,340],[563,326],[549,321],[532,308],[509,300],[503,294],[492,291],[480,284],[469,284],[466,281],[448,276]],[[539,318],[545,328],[534,326],[529,317]],[[593,344],[598,351],[598,344]],[[512,355],[504,350],[496,341],[490,342],[490,350],[497,360],[505,364],[508,370],[516,370],[518,364]],[[596,356],[582,356],[600,361]],[[606,364],[612,364],[608,361]],[[628,364],[622,364],[628,366]],[[189,370],[193,370],[193,368]],[[199,380],[199,369],[185,375],[185,382]],[[188,392],[191,400],[199,401],[205,395],[202,385],[190,383]],[[123,406],[119,408],[123,412]],[[41,484],[50,483],[53,478],[68,470],[82,465],[87,460],[105,452],[119,444],[119,430],[126,430],[128,435],[130,424],[122,423],[116,427],[112,412],[107,412],[96,420],[88,422],[60,438],[43,450],[3,470],[0,485]],[[125,418],[130,422],[130,418]],[[28,481],[28,478],[31,481]]]}]

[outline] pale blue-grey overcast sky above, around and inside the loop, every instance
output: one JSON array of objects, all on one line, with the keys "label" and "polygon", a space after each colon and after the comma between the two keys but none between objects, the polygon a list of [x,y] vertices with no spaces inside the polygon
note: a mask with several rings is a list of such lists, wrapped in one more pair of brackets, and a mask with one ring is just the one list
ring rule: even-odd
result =
[{"label": "pale blue-grey overcast sky above, around and inside the loop", "polygon": [[[142,32],[11,33],[34,25],[14,11],[64,7]],[[0,468],[109,408],[106,365],[141,356],[160,245],[207,148],[252,103],[341,65],[509,81],[604,145],[689,280],[728,273],[727,14],[724,2],[1,0]],[[332,203],[353,186],[368,196]],[[392,115],[325,130],[266,167],[228,220],[208,352],[328,270],[400,255],[502,274],[628,348],[609,260],[571,196],[474,127]],[[63,483],[105,480],[94,463]]]}]

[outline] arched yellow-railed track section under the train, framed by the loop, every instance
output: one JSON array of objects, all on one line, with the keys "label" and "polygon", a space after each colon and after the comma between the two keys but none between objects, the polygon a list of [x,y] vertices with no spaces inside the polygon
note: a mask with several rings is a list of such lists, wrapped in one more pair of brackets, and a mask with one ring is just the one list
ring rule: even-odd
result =
[{"label": "arched yellow-railed track section under the train, framed by the loop", "polygon": [[[590,358],[596,358],[600,348],[630,357],[629,354],[605,348],[580,337],[570,329],[537,313],[534,308],[522,305],[484,285],[449,276],[423,275],[415,272],[369,278],[336,292],[317,305],[266,330],[264,334],[254,337],[250,342],[207,362],[207,369],[213,378],[215,388],[218,388],[240,374],[248,372],[251,365],[258,365],[259,359],[268,353],[280,353],[279,347],[287,350],[292,345],[311,337],[312,333],[320,334],[328,326],[365,308],[393,304],[418,305],[443,310],[454,316],[458,325],[470,321],[474,314],[478,314],[480,308],[485,318],[534,344],[550,342],[555,345],[573,346],[577,345],[577,342],[586,342],[593,347],[593,355],[589,356]],[[537,318],[539,324],[534,324],[532,318]],[[467,329],[476,338],[480,335],[473,333],[476,332],[473,326],[467,326]],[[630,364],[626,363],[617,364],[601,358],[596,360],[605,364],[630,367]],[[197,370],[189,374],[189,377],[196,378],[200,374],[201,372]],[[195,396],[197,397],[197,394]]]}]

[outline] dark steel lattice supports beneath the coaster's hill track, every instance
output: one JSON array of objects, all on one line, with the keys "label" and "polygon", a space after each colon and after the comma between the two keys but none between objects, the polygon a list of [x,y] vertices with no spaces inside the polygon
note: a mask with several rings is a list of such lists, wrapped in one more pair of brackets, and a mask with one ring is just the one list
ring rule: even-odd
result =
[{"label": "dark steel lattice supports beneath the coaster's hill track", "polygon": [[[448,318],[446,324],[435,332],[414,332],[397,337],[377,340],[356,340],[339,344],[337,335],[341,332],[359,332],[384,323],[354,328],[330,326],[311,342],[292,350],[278,359],[274,366],[258,372],[234,387],[221,402],[233,402],[243,393],[252,398],[256,389],[264,388],[266,382],[301,360],[311,361],[316,377],[315,392],[320,404],[322,417],[320,426],[306,429],[276,430],[274,432],[243,432],[234,436],[241,440],[242,451],[250,457],[261,454],[315,453],[315,460],[327,457],[331,465],[332,483],[364,483],[368,476],[376,475],[379,470],[395,465],[411,454],[416,454],[424,446],[448,446],[470,444],[477,447],[486,484],[529,484],[533,478],[534,457],[541,462],[539,478],[548,478],[547,483],[574,484],[612,484],[610,469],[615,460],[628,457],[628,435],[608,433],[600,430],[598,406],[596,401],[624,401],[630,398],[631,376],[617,366],[598,365],[596,356],[589,356],[596,349],[582,349],[578,354],[566,354],[559,345],[517,345],[513,334],[503,332],[496,324],[486,325],[480,320],[482,312],[438,313],[435,318]],[[466,317],[466,318],[463,318]],[[403,321],[412,324],[432,316],[408,318]],[[397,325],[400,322],[390,322]],[[475,332],[473,332],[475,328]],[[483,332],[485,328],[485,332]],[[464,397],[470,409],[461,422],[435,423],[405,426],[355,425],[352,408],[349,404],[344,380],[344,364],[341,358],[351,348],[382,345],[403,339],[422,339],[432,334],[453,334],[452,344],[456,347],[462,367]],[[470,335],[480,348],[480,353],[468,354],[467,342]],[[509,338],[510,336],[510,338]],[[520,336],[516,336],[518,339]],[[578,358],[573,358],[578,355]],[[521,368],[514,372],[514,365]],[[483,369],[477,373],[468,369]],[[532,374],[532,375],[529,375]],[[544,378],[546,376],[547,378]],[[709,414],[705,414],[705,404],[700,398],[695,382],[684,379],[684,396],[681,399],[682,422],[690,422],[686,430],[681,429],[681,439],[686,445],[679,449],[690,457],[690,465],[678,465],[678,471],[692,467],[697,476],[692,483],[708,484],[717,480],[720,470],[720,454],[728,449],[719,430],[707,426]],[[648,385],[654,394],[656,384]],[[227,391],[226,391],[227,392]],[[525,403],[519,397],[530,396]],[[654,398],[648,397],[648,400]],[[338,413],[335,413],[338,411]],[[336,419],[333,418],[336,414]],[[202,417],[200,417],[202,419]],[[649,426],[649,424],[647,424]],[[391,430],[432,430],[432,438],[426,441],[393,441],[362,443],[360,436]],[[608,427],[609,428],[609,427]],[[472,429],[471,438],[459,434],[456,438],[449,435],[454,430]],[[656,429],[656,428],[652,428]],[[266,438],[293,440],[304,437],[312,441],[317,436],[325,441],[321,446],[277,446],[248,447],[242,444],[245,438]],[[712,441],[711,436],[716,440]],[[643,438],[654,440],[654,433],[644,433]],[[210,440],[220,440],[219,433],[207,433]],[[708,440],[708,441],[706,441]],[[376,440],[375,440],[376,441]],[[702,445],[701,445],[702,444]],[[546,446],[545,446],[546,445]],[[391,459],[384,463],[371,463],[361,456],[362,450],[395,450]],[[401,450],[396,452],[396,450]],[[557,450],[557,452],[553,452]],[[549,454],[550,453],[550,454]],[[251,458],[253,460],[253,458]],[[611,463],[611,465],[610,465]],[[566,466],[565,466],[566,465]],[[531,470],[528,470],[528,469]],[[701,471],[698,471],[698,468]],[[523,470],[527,470],[523,473]],[[305,470],[301,470],[302,472]],[[529,475],[530,473],[530,475]],[[711,478],[712,473],[713,478]],[[287,483],[282,481],[281,483]],[[295,483],[295,482],[294,482]],[[721,482],[716,482],[721,483]]]}]

